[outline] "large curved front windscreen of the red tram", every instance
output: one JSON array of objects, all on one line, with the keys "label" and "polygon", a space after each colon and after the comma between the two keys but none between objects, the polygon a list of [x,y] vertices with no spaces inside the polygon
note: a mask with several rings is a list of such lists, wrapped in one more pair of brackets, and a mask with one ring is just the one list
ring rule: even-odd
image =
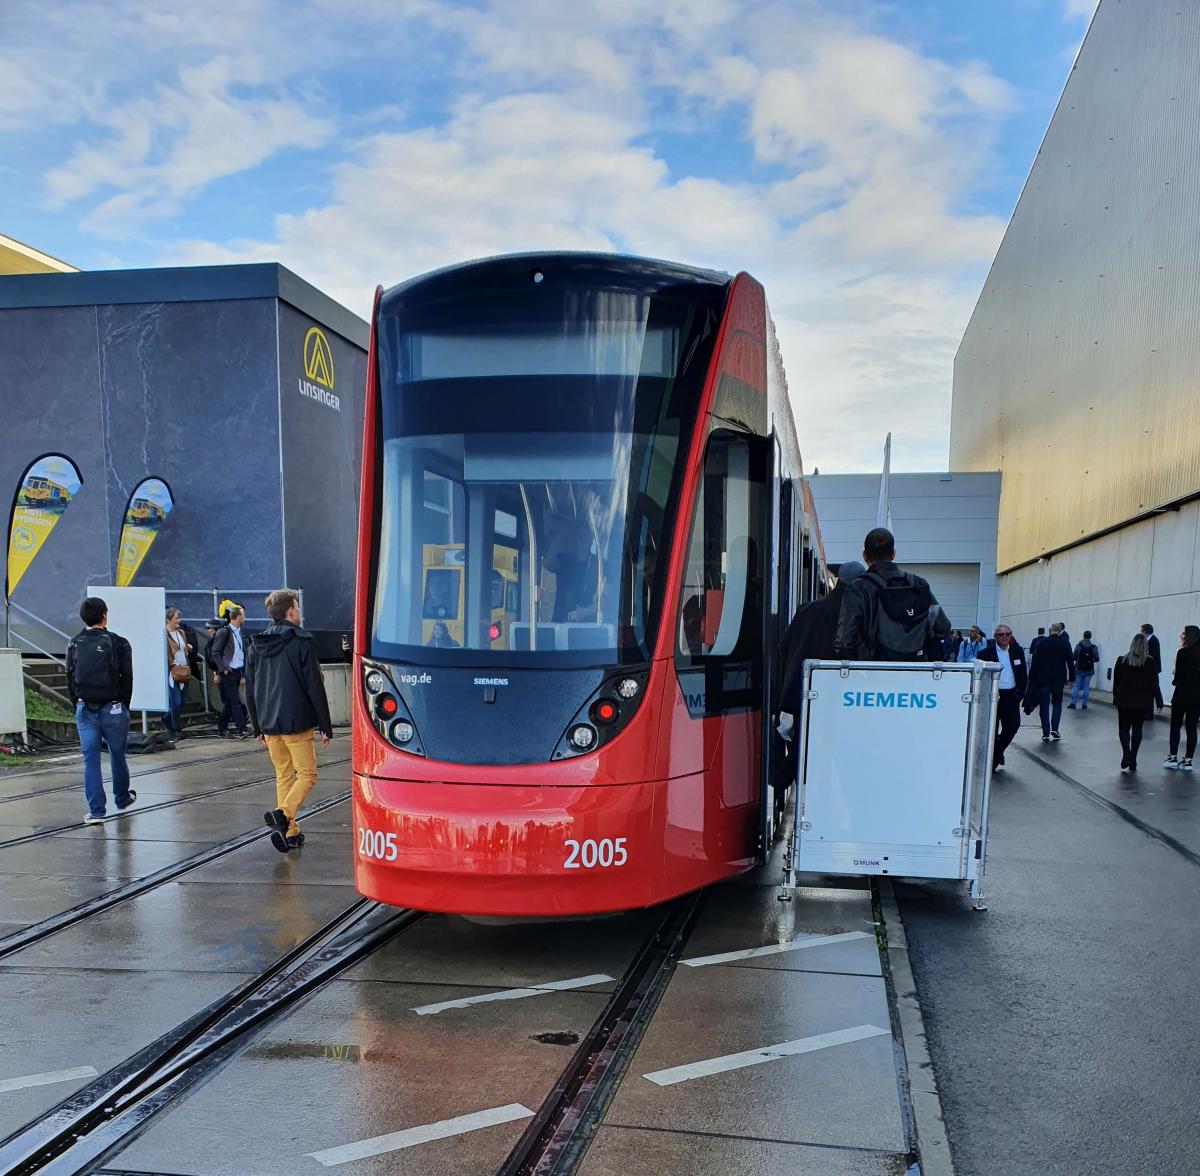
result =
[{"label": "large curved front windscreen of the red tram", "polygon": [[374,656],[647,660],[727,289],[702,270],[536,256],[384,296]]}]

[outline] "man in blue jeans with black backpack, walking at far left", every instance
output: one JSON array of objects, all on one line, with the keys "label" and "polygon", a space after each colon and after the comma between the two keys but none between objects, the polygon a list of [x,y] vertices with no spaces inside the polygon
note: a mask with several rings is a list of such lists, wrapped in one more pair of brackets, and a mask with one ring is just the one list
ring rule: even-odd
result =
[{"label": "man in blue jeans with black backpack, walking at far left", "polygon": [[85,824],[107,818],[104,778],[100,769],[101,739],[108,745],[113,766],[113,803],[122,812],[138,794],[130,788],[125,739],[130,733],[130,701],[133,697],[133,649],[108,629],[108,605],[89,596],[79,606],[88,626],[67,646],[67,692],[76,704],[76,727],[83,750],[83,791],[88,797]]}]

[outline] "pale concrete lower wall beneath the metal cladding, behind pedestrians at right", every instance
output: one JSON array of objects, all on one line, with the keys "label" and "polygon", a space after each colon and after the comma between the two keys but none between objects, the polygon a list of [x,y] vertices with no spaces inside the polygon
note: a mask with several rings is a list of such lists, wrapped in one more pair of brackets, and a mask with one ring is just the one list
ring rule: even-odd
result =
[{"label": "pale concrete lower wall beneath the metal cladding, behind pedestrians at right", "polygon": [[1102,535],[1001,577],[1001,616],[1028,644],[1039,625],[1066,620],[1100,647],[1093,684],[1110,689],[1112,662],[1150,622],[1163,644],[1163,692],[1186,624],[1200,624],[1200,503]]}]

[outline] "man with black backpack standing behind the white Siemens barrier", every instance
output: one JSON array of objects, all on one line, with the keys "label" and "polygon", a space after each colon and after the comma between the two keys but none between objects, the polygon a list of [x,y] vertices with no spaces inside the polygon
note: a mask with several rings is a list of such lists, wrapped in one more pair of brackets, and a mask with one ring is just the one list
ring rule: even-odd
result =
[{"label": "man with black backpack standing behind the white Siemens barrier", "polygon": [[950,622],[920,576],[895,563],[895,536],[876,527],[863,540],[866,575],[846,589],[834,656],[848,661],[940,661]]}]

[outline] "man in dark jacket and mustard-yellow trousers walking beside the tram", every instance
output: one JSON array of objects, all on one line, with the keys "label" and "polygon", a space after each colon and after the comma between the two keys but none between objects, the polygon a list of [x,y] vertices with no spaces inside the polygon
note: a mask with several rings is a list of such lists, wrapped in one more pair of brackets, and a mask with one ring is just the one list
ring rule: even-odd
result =
[{"label": "man in dark jacket and mustard-yellow trousers walking beside the tram", "polygon": [[296,811],[317,782],[313,734],[319,730],[328,748],[334,725],[312,634],[300,628],[299,598],[289,588],[272,592],[266,613],[271,624],[250,644],[246,701],[254,738],[266,744],[275,766],[276,808],[263,818],[271,845],[287,853],[304,845]]}]

